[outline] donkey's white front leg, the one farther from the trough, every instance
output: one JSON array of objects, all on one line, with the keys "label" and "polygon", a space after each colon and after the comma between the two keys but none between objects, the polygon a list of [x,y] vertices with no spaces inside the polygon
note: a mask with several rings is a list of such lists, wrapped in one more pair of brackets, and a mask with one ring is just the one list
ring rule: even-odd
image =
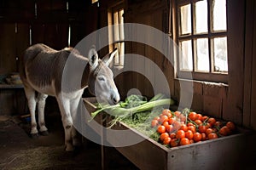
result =
[{"label": "donkey's white front leg, the one farther from the trough", "polygon": [[65,131],[65,145],[67,151],[73,150],[73,141],[72,141],[72,128],[73,128],[73,119],[70,114],[70,101],[69,99],[57,99],[62,117],[62,125]]}]

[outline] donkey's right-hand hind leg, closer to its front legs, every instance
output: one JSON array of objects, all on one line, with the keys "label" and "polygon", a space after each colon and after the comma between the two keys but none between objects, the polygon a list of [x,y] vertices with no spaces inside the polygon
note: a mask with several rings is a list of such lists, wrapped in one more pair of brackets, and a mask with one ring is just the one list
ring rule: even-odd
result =
[{"label": "donkey's right-hand hind leg, closer to its front legs", "polygon": [[45,100],[47,99],[47,94],[38,94],[38,125],[40,127],[39,131],[42,135],[48,135],[48,129],[45,127],[44,122],[44,107]]}]

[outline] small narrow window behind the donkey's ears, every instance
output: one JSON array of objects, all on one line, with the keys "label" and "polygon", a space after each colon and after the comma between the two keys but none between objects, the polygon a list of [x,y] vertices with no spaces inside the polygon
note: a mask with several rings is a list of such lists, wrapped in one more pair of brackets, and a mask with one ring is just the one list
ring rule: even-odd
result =
[{"label": "small narrow window behind the donkey's ears", "polygon": [[113,60],[113,66],[116,69],[124,67],[125,56],[125,32],[124,32],[124,8],[122,5],[114,6],[108,10],[108,26],[113,28],[108,31],[109,40],[113,42],[109,44],[109,51],[112,52],[114,48],[118,48],[118,56]]}]

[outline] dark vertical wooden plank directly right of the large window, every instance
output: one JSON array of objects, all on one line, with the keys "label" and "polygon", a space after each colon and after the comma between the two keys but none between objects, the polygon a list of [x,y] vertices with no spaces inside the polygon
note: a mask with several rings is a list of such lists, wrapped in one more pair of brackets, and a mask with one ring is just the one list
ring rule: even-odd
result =
[{"label": "dark vertical wooden plank directly right of the large window", "polygon": [[244,56],[244,5],[245,1],[234,0],[227,3],[228,49],[229,49],[229,111],[224,119],[238,124],[242,122],[243,99],[243,56]]}]

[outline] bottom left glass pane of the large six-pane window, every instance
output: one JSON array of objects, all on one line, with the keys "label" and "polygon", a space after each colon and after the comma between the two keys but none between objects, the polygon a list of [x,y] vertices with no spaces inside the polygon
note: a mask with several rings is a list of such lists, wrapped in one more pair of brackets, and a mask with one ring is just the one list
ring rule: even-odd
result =
[{"label": "bottom left glass pane of the large six-pane window", "polygon": [[184,71],[193,70],[192,44],[191,40],[180,42],[182,55],[180,56],[180,69]]}]

